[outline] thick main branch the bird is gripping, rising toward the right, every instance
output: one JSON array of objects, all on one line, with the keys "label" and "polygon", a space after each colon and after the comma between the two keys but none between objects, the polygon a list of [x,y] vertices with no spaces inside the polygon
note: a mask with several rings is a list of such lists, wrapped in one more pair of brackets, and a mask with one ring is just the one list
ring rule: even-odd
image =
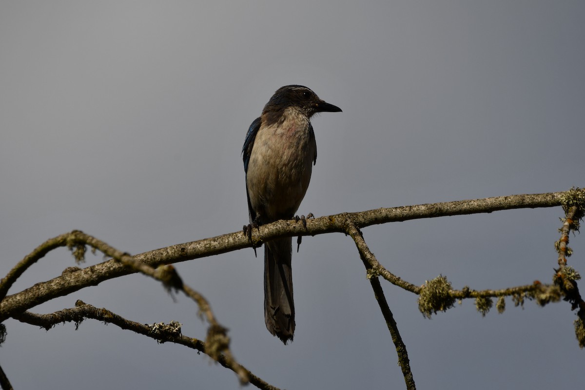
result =
[{"label": "thick main branch the bird is gripping, rising toward the right", "polygon": [[[583,192],[582,190],[579,191]],[[352,220],[357,229],[361,229],[365,226],[411,219],[467,215],[473,213],[491,213],[496,210],[507,209],[559,206],[562,205],[564,199],[563,196],[567,196],[567,194],[569,194],[569,191],[552,192],[548,194],[498,196],[495,198],[474,199],[470,201],[443,202],[402,206],[397,208],[380,208],[356,213],[340,213],[337,215],[307,220],[306,227],[304,224],[296,223],[294,221],[280,220],[268,225],[260,226],[259,229],[254,229],[254,234],[251,240],[249,240],[246,234],[243,234],[242,232],[229,233],[205,240],[177,244],[137,254],[136,256],[133,256],[133,258],[144,264],[150,265],[150,267],[156,268],[159,265],[214,256],[216,254],[243,249],[245,247],[254,247],[257,246],[259,242],[280,237],[315,236],[316,234],[345,232],[345,226],[343,224],[347,218]],[[74,233],[75,232],[71,232],[67,234]],[[44,254],[48,253],[51,249],[64,246],[63,240],[66,240],[67,234],[62,234],[61,236],[55,237],[55,239],[48,240],[45,244],[33,251],[33,253],[25,257],[20,263],[24,262],[25,264],[30,264],[30,261],[39,260],[39,258],[42,258]],[[53,240],[57,241],[57,243],[54,243]],[[28,257],[30,257],[30,260],[27,260]],[[50,281],[38,283],[18,294],[6,296],[0,303],[0,322],[16,313],[22,313],[25,310],[39,305],[40,303],[47,302],[50,299],[70,294],[81,288],[98,285],[105,280],[128,275],[133,272],[136,271],[125,267],[122,264],[116,263],[113,260],[92,265],[91,267],[75,272],[67,272],[66,274],[51,279]],[[12,282],[18,278],[20,274],[22,274],[20,268],[9,272],[9,274],[2,279],[0,288],[8,290],[9,286],[12,285]],[[2,292],[2,289],[0,289],[0,292]]]}]

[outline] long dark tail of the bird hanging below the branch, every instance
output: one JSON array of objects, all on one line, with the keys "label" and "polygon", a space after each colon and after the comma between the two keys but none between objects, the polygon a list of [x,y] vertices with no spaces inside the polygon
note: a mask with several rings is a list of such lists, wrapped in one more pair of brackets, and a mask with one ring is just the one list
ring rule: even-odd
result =
[{"label": "long dark tail of the bird hanging below the branch", "polygon": [[291,252],[290,238],[264,244],[264,321],[284,344],[292,341],[295,325]]}]

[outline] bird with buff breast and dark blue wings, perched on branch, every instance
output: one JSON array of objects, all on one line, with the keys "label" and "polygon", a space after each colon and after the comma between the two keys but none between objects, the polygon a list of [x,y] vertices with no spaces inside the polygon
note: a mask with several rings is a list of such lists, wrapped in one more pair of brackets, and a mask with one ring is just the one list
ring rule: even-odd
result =
[{"label": "bird with buff breast and dark blue wings, perched on branch", "polygon": [[[311,117],[341,111],[302,85],[274,92],[242,148],[250,232],[252,226],[294,218],[317,160]],[[264,322],[285,345],[295,330],[291,256],[292,237],[264,243]]]}]

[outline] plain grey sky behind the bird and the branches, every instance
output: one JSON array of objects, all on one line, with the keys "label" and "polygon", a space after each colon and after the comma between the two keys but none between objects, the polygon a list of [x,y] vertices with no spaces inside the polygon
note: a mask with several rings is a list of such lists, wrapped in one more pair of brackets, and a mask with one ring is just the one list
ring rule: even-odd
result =
[{"label": "plain grey sky behind the bird and the branches", "polygon": [[[66,2],[0,5],[0,243],[4,275],[80,229],[136,254],[247,222],[240,151],[278,87],[302,84],[343,113],[313,120],[318,160],[299,214],[585,187],[581,1]],[[504,288],[556,266],[562,209],[364,229],[381,263],[417,285]],[[583,274],[585,245],[569,259]],[[88,256],[87,265],[102,261]],[[355,245],[305,237],[293,254],[295,339],[264,326],[251,249],[177,265],[229,327],[235,357],[288,389],[403,388]],[[43,258],[11,294],[74,265]],[[428,320],[383,282],[418,388],[567,388],[584,351],[568,303],[482,318],[472,301]],[[142,275],[76,299],[141,323],[183,323],[189,299]],[[88,320],[50,332],[6,322],[0,364],[16,389],[238,389],[232,372],[171,344]]]}]

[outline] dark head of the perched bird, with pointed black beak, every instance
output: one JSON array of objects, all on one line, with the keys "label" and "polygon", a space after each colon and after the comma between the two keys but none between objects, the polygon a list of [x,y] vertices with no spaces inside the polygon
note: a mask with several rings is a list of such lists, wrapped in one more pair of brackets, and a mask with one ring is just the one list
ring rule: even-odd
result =
[{"label": "dark head of the perched bird, with pointed black beak", "polygon": [[307,118],[318,112],[341,112],[338,106],[319,99],[315,92],[302,85],[285,85],[278,88],[262,112],[279,112],[289,107],[300,109]]}]

